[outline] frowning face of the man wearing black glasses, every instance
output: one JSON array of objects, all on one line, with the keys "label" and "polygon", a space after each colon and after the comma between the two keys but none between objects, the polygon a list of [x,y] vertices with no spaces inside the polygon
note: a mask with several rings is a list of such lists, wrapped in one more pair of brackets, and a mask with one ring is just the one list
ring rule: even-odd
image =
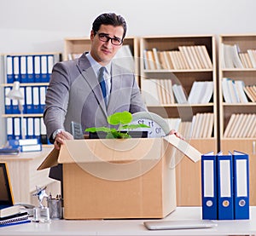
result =
[{"label": "frowning face of the man wearing black glasses", "polygon": [[114,37],[122,39],[124,33],[124,29],[122,26],[107,26],[102,25],[96,35],[94,32],[90,32],[90,40],[91,40],[91,56],[102,66],[107,65],[110,60],[112,60],[113,56],[117,53],[121,45],[113,45],[111,43],[111,39],[108,42],[102,42],[100,40],[99,35],[105,34],[108,37]]}]

